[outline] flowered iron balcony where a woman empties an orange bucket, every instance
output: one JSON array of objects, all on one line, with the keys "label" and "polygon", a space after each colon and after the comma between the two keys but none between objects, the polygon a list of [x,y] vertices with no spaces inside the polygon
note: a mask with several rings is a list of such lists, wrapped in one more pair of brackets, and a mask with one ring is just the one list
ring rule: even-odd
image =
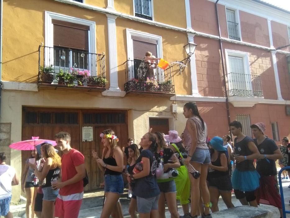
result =
[{"label": "flowered iron balcony where a woman empties an orange bucket", "polygon": [[138,68],[140,60],[127,60],[124,63],[126,83],[125,91],[127,94],[155,95],[155,96],[174,96],[173,66],[168,66],[165,70],[150,65],[145,78],[138,78]]}]

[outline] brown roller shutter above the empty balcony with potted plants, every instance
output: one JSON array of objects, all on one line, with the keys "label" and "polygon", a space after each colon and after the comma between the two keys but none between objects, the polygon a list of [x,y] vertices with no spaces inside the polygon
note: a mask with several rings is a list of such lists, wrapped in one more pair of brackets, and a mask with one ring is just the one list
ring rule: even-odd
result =
[{"label": "brown roller shutter above the empty balcony with potted plants", "polygon": [[89,50],[89,26],[53,20],[53,45]]}]

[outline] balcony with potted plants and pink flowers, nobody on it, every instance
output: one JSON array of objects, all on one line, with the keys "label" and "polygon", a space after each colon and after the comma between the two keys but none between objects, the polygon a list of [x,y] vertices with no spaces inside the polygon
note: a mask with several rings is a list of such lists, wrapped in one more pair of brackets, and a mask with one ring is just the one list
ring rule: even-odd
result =
[{"label": "balcony with potted plants and pink flowers, nobody on it", "polygon": [[39,89],[102,92],[107,82],[105,55],[39,46]]}]

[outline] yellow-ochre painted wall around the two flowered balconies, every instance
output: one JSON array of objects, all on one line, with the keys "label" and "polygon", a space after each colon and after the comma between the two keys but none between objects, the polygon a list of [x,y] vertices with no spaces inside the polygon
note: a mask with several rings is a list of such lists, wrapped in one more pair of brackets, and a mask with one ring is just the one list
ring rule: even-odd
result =
[{"label": "yellow-ochre painted wall around the two flowered balconies", "polygon": [[[97,53],[104,52],[106,55],[106,77],[109,80],[108,24],[105,14],[53,1],[42,1],[42,4],[39,4],[38,0],[25,2],[11,0],[4,4],[2,79],[14,82],[37,82],[38,46],[42,43],[45,45],[45,10],[96,22]],[[121,90],[124,90],[125,83],[123,63],[127,60],[126,28],[162,36],[163,58],[169,62],[186,57],[182,48],[188,41],[185,33],[118,17],[116,19],[117,61],[119,66],[118,84]],[[186,68],[182,74],[179,74],[178,66],[174,66],[175,92],[177,94],[191,94],[188,69]],[[182,86],[177,86],[177,84],[182,84]],[[106,88],[108,87],[109,83]]]}]

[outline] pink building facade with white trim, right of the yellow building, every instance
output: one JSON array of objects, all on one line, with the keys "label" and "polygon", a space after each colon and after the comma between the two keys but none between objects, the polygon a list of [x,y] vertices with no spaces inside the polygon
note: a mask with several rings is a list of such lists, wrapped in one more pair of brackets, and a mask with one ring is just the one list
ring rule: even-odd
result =
[{"label": "pink building facade with white trim, right of the yellow building", "polygon": [[290,44],[290,12],[251,0],[221,0],[217,10],[219,25],[215,1],[189,1],[187,28],[196,32],[189,39],[197,44],[193,92],[177,100],[197,103],[209,137],[228,134],[229,115],[251,137],[250,125],[264,122],[279,144],[290,136],[290,46],[275,49]]}]

